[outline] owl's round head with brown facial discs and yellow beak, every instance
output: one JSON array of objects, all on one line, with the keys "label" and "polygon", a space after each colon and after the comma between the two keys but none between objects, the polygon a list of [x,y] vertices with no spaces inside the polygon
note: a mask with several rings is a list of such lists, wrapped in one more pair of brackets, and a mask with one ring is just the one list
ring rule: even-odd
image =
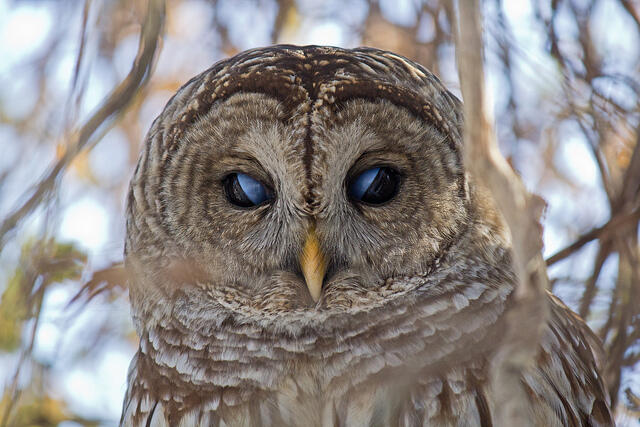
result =
[{"label": "owl's round head with brown facial discs and yellow beak", "polygon": [[155,120],[132,179],[134,313],[188,294],[201,313],[344,314],[449,292],[444,266],[504,263],[461,126],[438,79],[389,52],[274,46],[217,63]]}]

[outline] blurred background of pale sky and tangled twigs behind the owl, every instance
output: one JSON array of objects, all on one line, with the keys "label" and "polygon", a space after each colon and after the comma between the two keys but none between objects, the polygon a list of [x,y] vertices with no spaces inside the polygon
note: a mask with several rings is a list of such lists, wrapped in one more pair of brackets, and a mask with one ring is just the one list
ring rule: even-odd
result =
[{"label": "blurred background of pale sky and tangled twigs behind the owl", "polygon": [[[548,203],[553,291],[605,344],[619,424],[640,425],[640,3],[482,4],[498,140]],[[0,426],[117,424],[137,346],[127,184],[190,77],[273,43],[368,45],[459,96],[448,0],[170,0],[150,13],[147,0],[0,0]]]}]

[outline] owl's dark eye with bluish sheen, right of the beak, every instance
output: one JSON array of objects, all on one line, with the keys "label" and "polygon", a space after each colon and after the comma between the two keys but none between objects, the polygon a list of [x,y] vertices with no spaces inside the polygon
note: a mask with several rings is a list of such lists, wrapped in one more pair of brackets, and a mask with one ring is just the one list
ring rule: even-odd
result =
[{"label": "owl's dark eye with bluish sheen, right of the beak", "polygon": [[372,205],[380,205],[398,192],[400,174],[389,167],[367,169],[349,184],[349,195]]}]

